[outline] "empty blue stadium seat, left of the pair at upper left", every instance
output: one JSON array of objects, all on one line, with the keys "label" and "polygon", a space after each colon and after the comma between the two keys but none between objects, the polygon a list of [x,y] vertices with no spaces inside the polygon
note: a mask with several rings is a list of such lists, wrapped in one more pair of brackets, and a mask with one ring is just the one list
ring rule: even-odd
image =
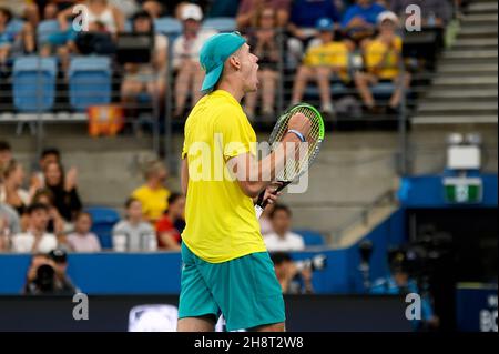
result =
[{"label": "empty blue stadium seat, left of the pair at upper left", "polygon": [[20,57],[12,69],[12,91],[20,112],[43,112],[52,109],[55,98],[55,58]]}]

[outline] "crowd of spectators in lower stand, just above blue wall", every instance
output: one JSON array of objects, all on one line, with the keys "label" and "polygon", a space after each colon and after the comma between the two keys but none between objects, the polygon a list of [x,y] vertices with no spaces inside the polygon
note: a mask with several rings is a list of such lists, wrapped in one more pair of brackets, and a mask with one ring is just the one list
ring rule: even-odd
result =
[{"label": "crowd of spectators in lower stand, just above blue wall", "polygon": [[[185,227],[185,196],[167,188],[169,171],[161,161],[143,166],[144,183],[131,191],[123,219],[111,233],[115,252],[180,251]],[[63,172],[58,149],[45,149],[30,179],[8,142],[0,141],[0,252],[48,254],[100,252],[101,235],[80,198],[78,170]],[[293,233],[288,206],[268,205],[261,219],[262,234],[271,252],[305,249]]]}]

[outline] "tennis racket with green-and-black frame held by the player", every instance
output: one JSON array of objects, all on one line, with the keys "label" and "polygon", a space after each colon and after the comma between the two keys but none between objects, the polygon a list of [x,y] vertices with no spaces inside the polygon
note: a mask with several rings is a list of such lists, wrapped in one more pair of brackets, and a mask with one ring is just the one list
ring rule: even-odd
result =
[{"label": "tennis racket with green-and-black frame held by the player", "polygon": [[[308,168],[314,162],[317,156],[320,144],[324,141],[324,120],[320,113],[310,104],[299,103],[289,108],[286,112],[281,115],[277,123],[272,131],[268,143],[271,145],[271,152],[276,150],[283,138],[288,133],[289,119],[295,114],[303,114],[310,121],[310,129],[304,138],[306,143],[304,151],[299,154],[299,159],[286,159],[284,166],[276,171],[275,181],[281,182],[275,193],[285,189],[289,183],[297,180],[302,174],[308,171]],[[256,216],[259,219],[267,201],[264,200],[265,191],[263,191],[256,201],[255,211]]]}]

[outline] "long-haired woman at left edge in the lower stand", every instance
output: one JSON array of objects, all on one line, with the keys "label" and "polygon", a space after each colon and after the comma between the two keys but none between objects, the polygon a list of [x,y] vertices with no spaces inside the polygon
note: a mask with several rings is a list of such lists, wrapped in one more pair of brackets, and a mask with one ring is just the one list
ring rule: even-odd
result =
[{"label": "long-haired woman at left edge in the lower stand", "polygon": [[31,202],[34,191],[28,192],[22,189],[24,170],[16,160],[11,160],[3,171],[3,182],[0,183],[0,202],[7,203],[22,215],[24,209]]}]

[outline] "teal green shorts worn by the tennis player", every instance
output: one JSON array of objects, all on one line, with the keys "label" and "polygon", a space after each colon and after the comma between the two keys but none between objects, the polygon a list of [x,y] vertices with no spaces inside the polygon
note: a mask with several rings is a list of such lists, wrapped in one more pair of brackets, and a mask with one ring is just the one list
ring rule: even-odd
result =
[{"label": "teal green shorts worn by the tennis player", "polygon": [[285,321],[284,300],[267,252],[208,263],[182,244],[179,318],[222,313],[227,331]]}]

